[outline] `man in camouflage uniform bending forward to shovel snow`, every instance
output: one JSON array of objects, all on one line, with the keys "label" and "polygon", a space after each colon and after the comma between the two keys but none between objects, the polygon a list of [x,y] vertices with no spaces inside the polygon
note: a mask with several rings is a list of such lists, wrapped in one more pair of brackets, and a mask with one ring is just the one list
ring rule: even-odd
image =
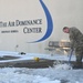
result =
[{"label": "man in camouflage uniform bending forward to shovel snow", "polygon": [[82,68],[82,58],[83,58],[83,34],[75,27],[63,28],[64,33],[69,33],[71,49],[75,51],[76,64],[74,68]]}]

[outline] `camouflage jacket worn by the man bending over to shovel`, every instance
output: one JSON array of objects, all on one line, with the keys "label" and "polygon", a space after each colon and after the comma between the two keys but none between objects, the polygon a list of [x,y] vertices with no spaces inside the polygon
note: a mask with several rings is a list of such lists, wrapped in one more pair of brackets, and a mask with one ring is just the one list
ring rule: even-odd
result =
[{"label": "camouflage jacket worn by the man bending over to shovel", "polygon": [[83,46],[83,34],[79,29],[74,27],[70,28],[69,37],[72,49]]}]

